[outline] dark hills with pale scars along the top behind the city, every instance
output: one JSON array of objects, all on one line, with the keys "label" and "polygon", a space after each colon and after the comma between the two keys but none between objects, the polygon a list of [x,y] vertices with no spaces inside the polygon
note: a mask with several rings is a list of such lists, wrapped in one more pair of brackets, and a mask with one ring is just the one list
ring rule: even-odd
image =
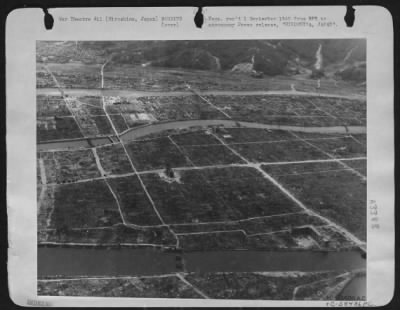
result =
[{"label": "dark hills with pale scars along the top behind the city", "polygon": [[[64,61],[101,63],[110,58],[111,64],[115,65],[223,70],[267,76],[325,75],[365,81],[366,42],[363,39],[80,41],[64,44],[65,51],[62,42],[38,42],[38,54],[52,59],[61,54]],[[38,61],[41,59],[38,57]]]}]

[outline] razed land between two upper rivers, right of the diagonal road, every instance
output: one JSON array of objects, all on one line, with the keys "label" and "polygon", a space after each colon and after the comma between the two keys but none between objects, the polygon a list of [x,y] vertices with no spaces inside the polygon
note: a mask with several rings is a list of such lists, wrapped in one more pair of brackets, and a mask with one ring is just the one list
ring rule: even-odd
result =
[{"label": "razed land between two upper rivers, right of the diagonal road", "polygon": [[307,96],[206,96],[233,119],[301,126],[365,125],[364,101]]}]

